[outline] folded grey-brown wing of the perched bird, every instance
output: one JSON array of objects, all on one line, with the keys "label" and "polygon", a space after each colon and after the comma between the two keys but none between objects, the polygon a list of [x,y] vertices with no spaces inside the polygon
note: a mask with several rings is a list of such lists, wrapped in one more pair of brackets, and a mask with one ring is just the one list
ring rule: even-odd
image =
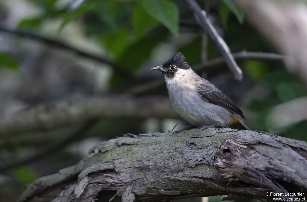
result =
[{"label": "folded grey-brown wing of the perched bird", "polygon": [[237,107],[229,97],[209,81],[201,79],[195,83],[195,87],[198,95],[200,95],[205,101],[224,107],[225,109],[240,115],[242,118],[245,118],[239,107]]}]

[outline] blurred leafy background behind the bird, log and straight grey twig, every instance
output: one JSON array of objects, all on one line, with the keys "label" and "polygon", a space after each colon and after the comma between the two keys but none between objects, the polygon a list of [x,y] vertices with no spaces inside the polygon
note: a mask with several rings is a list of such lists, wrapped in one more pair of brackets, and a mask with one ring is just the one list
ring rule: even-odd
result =
[{"label": "blurred leafy background behind the bird, log and straight grey twig", "polygon": [[305,2],[197,2],[235,53],[241,82],[185,1],[0,0],[0,201],[100,141],[189,126],[150,71],[178,51],[251,130],[307,140]]}]

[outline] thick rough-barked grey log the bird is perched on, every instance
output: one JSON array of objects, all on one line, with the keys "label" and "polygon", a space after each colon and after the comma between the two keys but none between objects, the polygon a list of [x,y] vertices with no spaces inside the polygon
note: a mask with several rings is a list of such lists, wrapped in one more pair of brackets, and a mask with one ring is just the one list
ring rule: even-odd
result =
[{"label": "thick rough-barked grey log the bird is perched on", "polygon": [[[307,194],[307,143],[259,131],[206,129],[101,142],[91,156],[35,180],[20,201],[162,201]],[[290,196],[291,197],[291,196]]]}]

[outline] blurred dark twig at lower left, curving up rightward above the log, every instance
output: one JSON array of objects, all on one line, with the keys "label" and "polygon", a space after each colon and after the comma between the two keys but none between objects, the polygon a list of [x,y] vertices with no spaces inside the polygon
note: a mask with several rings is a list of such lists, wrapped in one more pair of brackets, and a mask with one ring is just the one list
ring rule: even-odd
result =
[{"label": "blurred dark twig at lower left, curving up rightward above the log", "polygon": [[11,169],[11,168],[15,168],[17,166],[21,166],[21,165],[25,165],[27,163],[33,162],[33,161],[37,161],[39,159],[42,159],[54,152],[59,151],[60,149],[62,149],[63,147],[69,145],[70,143],[74,142],[75,140],[77,140],[80,136],[84,135],[84,133],[89,130],[92,126],[94,126],[99,119],[91,119],[89,121],[87,121],[87,123],[81,127],[79,130],[77,130],[76,132],[72,133],[71,135],[69,135],[68,137],[64,138],[62,141],[55,143],[53,145],[51,145],[50,147],[46,148],[45,150],[43,150],[42,152],[39,153],[35,153],[29,157],[25,157],[23,159],[19,159],[19,160],[14,160],[11,162],[7,162],[7,163],[3,163],[3,165],[0,166],[0,172]]}]

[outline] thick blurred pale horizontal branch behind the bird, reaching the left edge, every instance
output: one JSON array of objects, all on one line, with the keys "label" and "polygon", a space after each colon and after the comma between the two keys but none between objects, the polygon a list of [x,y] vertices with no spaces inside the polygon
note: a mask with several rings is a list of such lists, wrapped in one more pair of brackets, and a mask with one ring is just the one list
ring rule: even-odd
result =
[{"label": "thick blurred pale horizontal branch behind the bird, reaching the left edge", "polygon": [[109,95],[39,104],[14,116],[0,118],[0,135],[46,130],[92,118],[179,118],[168,97]]}]

